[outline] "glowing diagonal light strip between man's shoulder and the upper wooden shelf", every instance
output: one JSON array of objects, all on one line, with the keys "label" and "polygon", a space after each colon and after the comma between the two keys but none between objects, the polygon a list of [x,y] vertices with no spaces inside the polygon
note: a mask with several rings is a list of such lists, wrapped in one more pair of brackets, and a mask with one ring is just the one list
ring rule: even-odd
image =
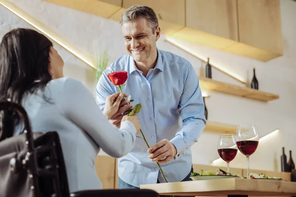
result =
[{"label": "glowing diagonal light strip between man's shoulder and the upper wooden shelf", "polygon": [[[204,56],[201,56],[200,54],[197,54],[196,52],[194,52],[193,50],[191,50],[190,48],[188,47],[185,47],[184,45],[182,45],[181,43],[179,43],[177,40],[175,40],[174,38],[171,38],[171,37],[166,37],[165,41],[179,47],[180,49],[184,50],[185,52],[189,53],[190,55],[193,55],[195,56],[196,58],[202,60],[203,62],[208,62],[208,58],[207,57],[204,57]],[[216,69],[224,72],[225,74],[231,76],[232,78],[238,80],[239,82],[241,83],[244,83],[246,84],[246,79],[244,79],[243,77],[229,71],[228,69],[224,68],[223,66],[211,61],[211,66],[215,67]]]}]

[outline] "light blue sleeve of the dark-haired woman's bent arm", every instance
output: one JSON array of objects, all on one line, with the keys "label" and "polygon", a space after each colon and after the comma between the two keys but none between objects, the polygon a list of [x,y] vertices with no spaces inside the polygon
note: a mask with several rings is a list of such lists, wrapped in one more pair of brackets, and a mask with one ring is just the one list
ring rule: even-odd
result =
[{"label": "light blue sleeve of the dark-haired woman's bent arm", "polygon": [[63,86],[65,97],[62,108],[76,125],[87,132],[104,152],[120,158],[128,154],[136,141],[136,128],[130,121],[121,123],[120,129],[113,127],[103,115],[92,94],[85,86],[68,78]]}]

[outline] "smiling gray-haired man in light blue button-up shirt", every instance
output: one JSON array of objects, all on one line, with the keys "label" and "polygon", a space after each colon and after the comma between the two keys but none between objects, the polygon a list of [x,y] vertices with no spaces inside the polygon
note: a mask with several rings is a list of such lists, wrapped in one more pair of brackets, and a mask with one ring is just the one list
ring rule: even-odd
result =
[{"label": "smiling gray-haired man in light blue button-up shirt", "polygon": [[[134,149],[118,160],[119,188],[165,182],[155,161],[169,182],[191,180],[190,146],[206,124],[197,75],[185,59],[156,48],[160,28],[151,8],[130,7],[122,14],[120,25],[129,55],[103,72],[96,88],[97,103],[104,110],[106,97],[119,92],[107,74],[127,71],[122,91],[132,96],[134,105],[142,104],[138,118],[150,148],[137,138]],[[120,126],[121,113],[127,108],[129,105],[122,106],[111,118],[114,126]]]}]

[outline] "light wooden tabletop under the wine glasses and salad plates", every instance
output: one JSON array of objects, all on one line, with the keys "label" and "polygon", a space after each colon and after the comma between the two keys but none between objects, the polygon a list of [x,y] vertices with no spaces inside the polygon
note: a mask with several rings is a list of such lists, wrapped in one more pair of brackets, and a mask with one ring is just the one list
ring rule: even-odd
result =
[{"label": "light wooden tabletop under the wine glasses and salad plates", "polygon": [[242,178],[147,184],[141,185],[141,189],[177,196],[296,196],[296,182]]}]

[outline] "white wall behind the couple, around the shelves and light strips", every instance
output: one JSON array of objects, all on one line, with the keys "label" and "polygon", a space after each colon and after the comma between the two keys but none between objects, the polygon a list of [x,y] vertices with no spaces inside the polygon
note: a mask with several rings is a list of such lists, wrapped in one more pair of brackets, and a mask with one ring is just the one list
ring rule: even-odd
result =
[{"label": "white wall behind the couple, around the shelves and light strips", "polygon": [[[75,44],[85,53],[93,54],[99,48],[106,47],[110,52],[112,61],[125,54],[120,27],[115,21],[41,0],[11,1]],[[211,97],[206,99],[209,113],[208,119],[211,121],[236,125],[243,123],[255,124],[260,136],[277,128],[280,129],[279,133],[259,143],[258,150],[250,158],[250,167],[253,169],[280,170],[282,146],[286,147],[286,155],[288,155],[288,150],[293,150],[293,157],[296,160],[296,131],[294,124],[296,120],[295,10],[296,2],[281,0],[284,56],[267,63],[179,40],[185,46],[206,57],[209,56],[213,61],[221,63],[249,81],[252,80],[253,67],[255,67],[259,80],[259,89],[280,95],[280,99],[267,103],[216,92],[210,92]],[[8,10],[0,7],[0,37],[12,28],[18,27],[30,28],[29,25]],[[100,43],[100,45],[97,43]],[[184,57],[191,62],[198,75],[203,74],[200,73],[200,70],[205,65],[198,59],[165,42],[164,35],[157,42],[157,46],[159,49]],[[90,91],[93,91],[95,83],[92,68],[61,47],[56,47],[65,60],[65,75],[82,81]],[[214,69],[212,72],[213,78],[216,80],[242,85],[218,70]],[[193,163],[210,164],[211,161],[215,160],[218,157],[218,138],[218,134],[204,132],[198,143],[192,146]],[[225,166],[226,164],[222,162],[217,165]],[[246,167],[245,157],[238,154],[235,160],[230,163],[230,166]]]}]

